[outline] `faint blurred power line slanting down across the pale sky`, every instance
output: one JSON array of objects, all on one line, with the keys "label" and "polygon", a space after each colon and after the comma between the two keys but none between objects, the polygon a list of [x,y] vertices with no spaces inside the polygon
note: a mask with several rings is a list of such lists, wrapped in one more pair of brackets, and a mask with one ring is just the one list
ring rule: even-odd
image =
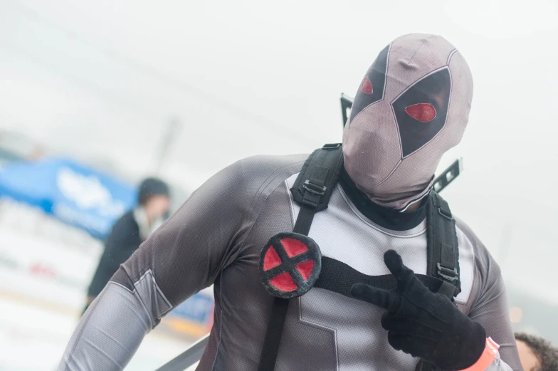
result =
[{"label": "faint blurred power line slanting down across the pale sky", "polygon": [[21,3],[16,3],[16,6],[19,7],[19,13],[23,14],[28,19],[32,19],[37,23],[42,23],[44,26],[54,28],[59,32],[65,34],[65,36],[67,36],[68,38],[73,38],[78,43],[82,43],[84,45],[89,46],[90,48],[96,49],[99,53],[102,53],[104,56],[111,58],[127,66],[128,68],[135,69],[139,73],[142,73],[143,75],[147,75],[150,78],[159,80],[160,83],[163,83],[164,85],[168,85],[183,94],[193,96],[194,98],[199,98],[200,100],[205,100],[210,105],[217,106],[228,113],[231,113],[239,117],[243,117],[252,122],[257,122],[258,127],[260,127],[261,124],[263,123],[267,123],[268,125],[275,127],[275,129],[280,132],[290,132],[290,135],[293,136],[293,140],[296,141],[300,141],[300,139],[312,140],[312,138],[305,137],[305,135],[302,135],[300,132],[296,130],[290,129],[289,127],[285,127],[284,125],[275,122],[275,120],[272,120],[258,113],[253,113],[250,110],[246,110],[244,108],[238,107],[238,105],[230,103],[228,102],[228,100],[219,98],[218,96],[213,95],[211,93],[207,93],[206,91],[201,90],[200,88],[196,88],[194,85],[186,83],[184,80],[173,78],[163,73],[161,70],[154,68],[153,66],[139,63],[135,61],[133,58],[125,56],[125,54],[119,53],[114,49],[107,48],[102,43],[92,41],[89,38],[78,35],[78,33],[75,33],[74,31],[63,28],[59,26],[58,23],[51,21],[50,19],[47,19],[46,17],[42,16],[35,9],[31,9],[30,7],[25,6]]}]

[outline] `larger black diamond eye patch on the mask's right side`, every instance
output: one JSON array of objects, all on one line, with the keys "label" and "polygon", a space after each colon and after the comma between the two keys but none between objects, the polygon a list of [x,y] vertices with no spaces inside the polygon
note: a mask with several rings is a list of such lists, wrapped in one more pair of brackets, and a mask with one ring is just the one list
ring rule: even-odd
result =
[{"label": "larger black diamond eye patch on the mask's right side", "polygon": [[448,115],[451,76],[448,68],[418,80],[391,103],[403,157],[430,142],[442,130]]}]

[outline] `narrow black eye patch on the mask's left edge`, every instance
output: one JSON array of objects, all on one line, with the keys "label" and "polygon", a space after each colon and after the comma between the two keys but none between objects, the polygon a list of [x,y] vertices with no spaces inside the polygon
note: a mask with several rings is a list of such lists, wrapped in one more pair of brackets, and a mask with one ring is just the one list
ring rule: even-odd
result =
[{"label": "narrow black eye patch on the mask's left edge", "polygon": [[360,111],[367,108],[372,103],[376,103],[384,98],[384,85],[386,85],[386,69],[387,57],[389,54],[388,45],[382,50],[376,58],[376,61],[370,66],[366,76],[360,83],[357,95],[354,96],[354,103],[351,108],[351,118],[349,124]]}]

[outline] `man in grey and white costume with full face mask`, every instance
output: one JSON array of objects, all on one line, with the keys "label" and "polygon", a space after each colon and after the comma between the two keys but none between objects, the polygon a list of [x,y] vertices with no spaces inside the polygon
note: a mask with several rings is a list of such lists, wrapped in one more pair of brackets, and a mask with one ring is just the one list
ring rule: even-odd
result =
[{"label": "man in grey and white costume with full face mask", "polygon": [[[260,257],[272,236],[297,229],[302,208],[290,189],[308,156],[250,157],[209,179],[120,267],[83,316],[58,370],[122,370],[163,315],[211,284],[214,326],[201,371],[521,370],[500,268],[441,207],[458,244],[459,269],[450,270],[459,273],[458,295],[431,292],[417,278],[427,270],[433,174],[460,142],[472,95],[463,56],[440,36],[423,34],[386,46],[359,85],[339,182],[307,236],[323,259],[342,267],[333,286],[345,269],[363,282],[389,276],[395,290],[357,281],[344,295],[316,286],[290,299],[277,356],[265,365],[277,305],[260,282],[261,265],[272,270],[306,247],[283,239],[287,255]],[[310,277],[308,266],[296,267]],[[270,286],[298,287],[281,276]]]}]

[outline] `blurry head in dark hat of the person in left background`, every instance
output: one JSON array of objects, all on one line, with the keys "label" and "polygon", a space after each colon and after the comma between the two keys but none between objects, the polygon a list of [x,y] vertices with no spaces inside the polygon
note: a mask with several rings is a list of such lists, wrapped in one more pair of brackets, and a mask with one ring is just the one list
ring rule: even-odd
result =
[{"label": "blurry head in dark hat of the person in left background", "polygon": [[167,214],[170,201],[169,186],[162,180],[147,178],[139,184],[137,202],[144,207],[150,221]]}]

